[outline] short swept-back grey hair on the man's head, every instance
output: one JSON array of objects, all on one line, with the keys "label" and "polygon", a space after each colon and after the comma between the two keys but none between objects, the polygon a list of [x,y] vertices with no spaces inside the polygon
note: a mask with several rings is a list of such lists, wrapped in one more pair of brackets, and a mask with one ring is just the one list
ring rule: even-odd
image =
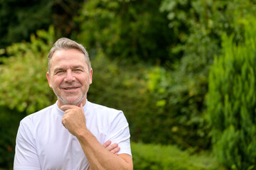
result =
[{"label": "short swept-back grey hair on the man's head", "polygon": [[90,69],[92,68],[92,66],[90,63],[90,58],[89,58],[88,52],[85,50],[85,47],[83,47],[78,42],[75,42],[68,38],[60,38],[54,43],[53,47],[50,49],[50,52],[48,54],[48,72],[49,72],[49,74],[50,74],[50,60],[53,57],[54,52],[57,50],[70,50],[70,49],[78,50],[78,51],[82,52],[82,54],[85,55],[85,61],[86,61],[86,64],[87,64],[89,72],[90,72]]}]

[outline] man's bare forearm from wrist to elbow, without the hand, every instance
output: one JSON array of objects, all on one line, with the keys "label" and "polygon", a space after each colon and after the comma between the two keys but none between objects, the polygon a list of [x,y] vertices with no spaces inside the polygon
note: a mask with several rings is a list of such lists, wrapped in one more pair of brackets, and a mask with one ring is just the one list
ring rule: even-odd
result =
[{"label": "man's bare forearm from wrist to elbow, without the hand", "polygon": [[90,164],[90,169],[132,169],[132,162],[107,151],[89,130],[76,135]]}]

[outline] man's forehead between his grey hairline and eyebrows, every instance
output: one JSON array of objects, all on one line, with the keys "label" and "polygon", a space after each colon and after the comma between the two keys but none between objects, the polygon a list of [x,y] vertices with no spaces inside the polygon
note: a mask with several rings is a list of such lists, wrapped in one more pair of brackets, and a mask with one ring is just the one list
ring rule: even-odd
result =
[{"label": "man's forehead between his grey hairline and eyebrows", "polygon": [[73,64],[80,64],[87,67],[85,55],[79,50],[57,50],[53,53],[53,57],[50,60],[50,67],[68,67]]}]

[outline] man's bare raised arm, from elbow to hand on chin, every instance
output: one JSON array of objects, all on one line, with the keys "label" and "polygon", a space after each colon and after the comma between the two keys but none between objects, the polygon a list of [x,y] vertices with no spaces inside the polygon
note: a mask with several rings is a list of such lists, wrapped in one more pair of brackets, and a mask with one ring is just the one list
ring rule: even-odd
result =
[{"label": "man's bare raised arm, from elbow to hand on chin", "polygon": [[78,106],[62,106],[65,111],[63,125],[78,138],[91,169],[133,169],[132,157],[129,154],[112,154],[100,145],[85,125],[85,113],[82,104]]}]

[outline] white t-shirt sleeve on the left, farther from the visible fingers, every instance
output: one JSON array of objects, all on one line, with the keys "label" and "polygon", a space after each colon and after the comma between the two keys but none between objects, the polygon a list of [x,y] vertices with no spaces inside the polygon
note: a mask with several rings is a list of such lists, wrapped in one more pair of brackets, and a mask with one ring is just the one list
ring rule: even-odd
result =
[{"label": "white t-shirt sleeve on the left, farther from the visible fingers", "polygon": [[27,123],[21,121],[16,137],[14,170],[41,169],[35,140]]}]

